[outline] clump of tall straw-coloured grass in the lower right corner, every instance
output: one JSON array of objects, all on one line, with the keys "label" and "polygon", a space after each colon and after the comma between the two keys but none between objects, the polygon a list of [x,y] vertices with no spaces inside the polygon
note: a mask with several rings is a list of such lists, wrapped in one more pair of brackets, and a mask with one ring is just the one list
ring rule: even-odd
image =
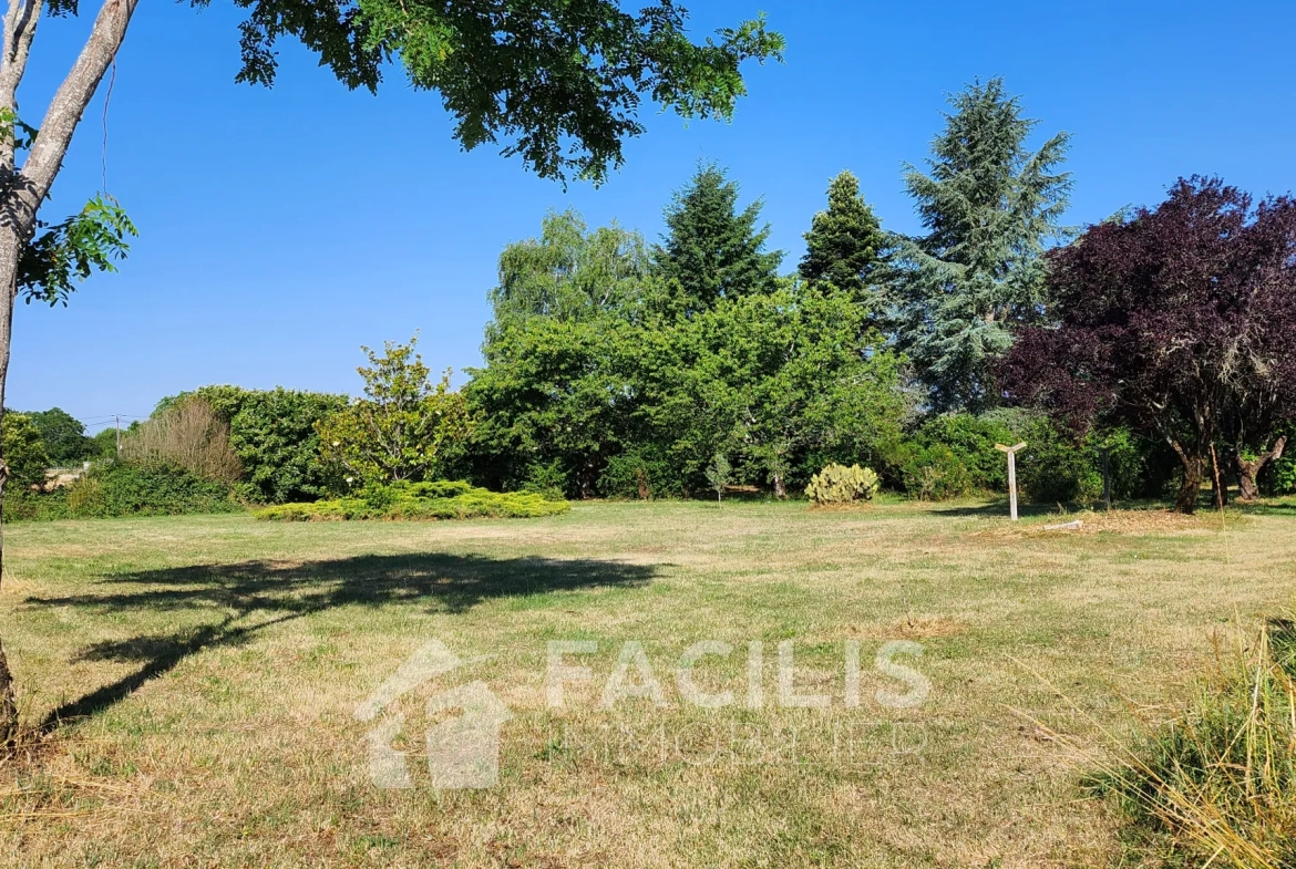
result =
[{"label": "clump of tall straw-coloured grass in the lower right corner", "polygon": [[1296,624],[1269,622],[1093,780],[1170,866],[1296,866]]}]

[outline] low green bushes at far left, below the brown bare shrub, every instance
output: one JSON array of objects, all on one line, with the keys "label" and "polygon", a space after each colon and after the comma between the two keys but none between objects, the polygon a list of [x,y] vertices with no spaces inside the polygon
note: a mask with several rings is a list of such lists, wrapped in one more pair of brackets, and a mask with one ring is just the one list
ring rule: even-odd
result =
[{"label": "low green bushes at far left, below the brown bare shrub", "polygon": [[166,465],[110,461],[49,493],[5,493],[4,519],[98,519],[123,515],[236,513],[229,488]]}]

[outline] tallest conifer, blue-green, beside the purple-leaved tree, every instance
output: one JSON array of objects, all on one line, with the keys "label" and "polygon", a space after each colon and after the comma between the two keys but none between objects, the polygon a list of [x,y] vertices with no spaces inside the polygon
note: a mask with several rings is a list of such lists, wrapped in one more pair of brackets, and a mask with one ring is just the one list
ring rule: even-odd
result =
[{"label": "tallest conifer, blue-green, beside the purple-leaved tree", "polygon": [[1038,122],[1023,117],[1002,79],[972,84],[950,105],[931,174],[907,166],[905,175],[928,233],[897,238],[898,338],[932,409],[980,411],[997,403],[991,370],[1011,328],[1043,316],[1041,255],[1067,234],[1059,219],[1070,175],[1058,166],[1069,137],[1029,152]]}]

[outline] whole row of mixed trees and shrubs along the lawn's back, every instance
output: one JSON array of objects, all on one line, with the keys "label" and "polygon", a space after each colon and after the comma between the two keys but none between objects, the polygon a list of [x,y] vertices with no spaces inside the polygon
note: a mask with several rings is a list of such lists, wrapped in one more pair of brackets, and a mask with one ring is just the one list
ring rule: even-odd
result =
[{"label": "whole row of mixed trees and shrubs along the lawn's back", "polygon": [[[365,350],[360,399],[203,387],[163,400],[126,457],[223,468],[271,504],[425,479],[689,497],[717,468],[785,497],[831,464],[943,499],[1002,491],[994,444],[1017,440],[1037,500],[1096,499],[1104,465],[1116,497],[1182,510],[1204,482],[1221,501],[1234,479],[1244,499],[1296,488],[1291,202],[1195,177],[1068,228],[1068,139],[1030,149],[1037,126],[1001,80],[968,87],[905,170],[924,232],[885,229],[842,172],[788,269],[761,202],[714,164],[654,243],[550,214],[500,254],[461,390],[389,343]],[[181,425],[194,403],[210,422]],[[200,466],[165,446],[185,431],[222,446]]]}]

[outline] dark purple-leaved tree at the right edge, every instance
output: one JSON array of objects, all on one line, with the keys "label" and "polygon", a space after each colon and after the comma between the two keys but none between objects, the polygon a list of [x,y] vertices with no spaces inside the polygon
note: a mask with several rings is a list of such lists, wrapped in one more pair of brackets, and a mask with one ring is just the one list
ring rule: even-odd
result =
[{"label": "dark purple-leaved tree at the right edge", "polygon": [[1229,464],[1255,497],[1296,414],[1296,202],[1181,179],[1048,265],[1056,322],[1020,333],[1001,370],[1008,396],[1164,439],[1183,465],[1181,512]]}]

